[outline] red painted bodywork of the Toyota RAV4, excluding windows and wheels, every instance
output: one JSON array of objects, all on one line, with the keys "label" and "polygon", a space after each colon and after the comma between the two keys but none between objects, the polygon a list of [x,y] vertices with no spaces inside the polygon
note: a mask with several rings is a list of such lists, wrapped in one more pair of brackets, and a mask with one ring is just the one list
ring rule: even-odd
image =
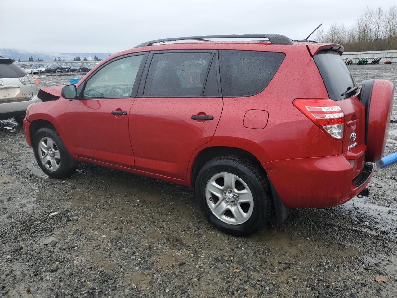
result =
[{"label": "red painted bodywork of the Toyota RAV4, excluding windows and wheels", "polygon": [[[61,96],[62,86],[46,88],[44,91],[56,100],[28,109],[23,122],[27,143],[31,145],[38,127],[50,123],[76,161],[184,186],[195,183],[197,167],[202,164],[199,159],[206,160],[221,151],[244,152],[263,166],[286,207],[331,207],[366,187],[372,169],[365,181],[353,183],[363,170],[368,146],[359,91],[334,102],[344,113],[342,139],[329,135],[297,108],[297,101],[302,99],[330,100],[313,57],[322,49],[339,50],[341,54],[339,45],[177,43],[134,48],[102,64],[136,52],[214,49],[281,52],[285,58],[268,86],[249,97],[70,101]],[[85,75],[77,89],[102,64]],[[380,92],[392,94],[393,87],[387,85],[387,90]],[[127,111],[128,117],[112,115],[111,111]],[[192,120],[192,115],[212,115],[214,120]],[[387,114],[379,117],[376,121],[387,122]],[[350,139],[353,132],[357,135],[354,142]]]}]

